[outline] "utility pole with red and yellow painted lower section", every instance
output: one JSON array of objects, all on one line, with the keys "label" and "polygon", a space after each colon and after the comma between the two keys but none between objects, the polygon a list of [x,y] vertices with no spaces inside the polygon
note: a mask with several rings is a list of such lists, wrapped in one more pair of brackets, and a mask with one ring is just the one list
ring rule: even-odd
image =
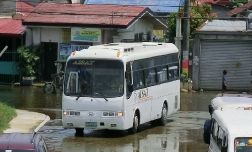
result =
[{"label": "utility pole with red and yellow painted lower section", "polygon": [[190,0],[185,0],[184,4],[184,25],[183,25],[183,60],[182,60],[182,73],[188,74],[189,67],[189,35],[190,35]]}]

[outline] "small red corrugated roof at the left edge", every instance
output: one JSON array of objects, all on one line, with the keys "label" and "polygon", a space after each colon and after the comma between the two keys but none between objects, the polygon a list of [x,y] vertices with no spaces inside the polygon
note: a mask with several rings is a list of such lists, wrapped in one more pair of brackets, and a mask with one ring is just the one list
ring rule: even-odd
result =
[{"label": "small red corrugated roof at the left edge", "polygon": [[1,35],[22,35],[25,27],[21,20],[12,18],[0,18],[0,34]]}]

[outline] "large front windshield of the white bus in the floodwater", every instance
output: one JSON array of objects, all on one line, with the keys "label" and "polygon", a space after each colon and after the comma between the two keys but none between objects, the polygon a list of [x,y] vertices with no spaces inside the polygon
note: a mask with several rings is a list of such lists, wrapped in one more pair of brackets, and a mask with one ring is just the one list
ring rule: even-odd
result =
[{"label": "large front windshield of the white bus in the floodwater", "polygon": [[85,97],[123,95],[123,63],[117,60],[72,59],[67,62],[64,94]]}]

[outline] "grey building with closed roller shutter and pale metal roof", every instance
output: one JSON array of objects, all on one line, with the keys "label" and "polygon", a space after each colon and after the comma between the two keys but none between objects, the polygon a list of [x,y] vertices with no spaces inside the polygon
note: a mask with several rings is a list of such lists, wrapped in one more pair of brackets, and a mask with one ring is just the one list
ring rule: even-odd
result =
[{"label": "grey building with closed roller shutter and pale metal roof", "polygon": [[193,89],[221,90],[227,70],[227,90],[252,89],[252,32],[239,20],[206,21],[197,29],[193,48]]}]

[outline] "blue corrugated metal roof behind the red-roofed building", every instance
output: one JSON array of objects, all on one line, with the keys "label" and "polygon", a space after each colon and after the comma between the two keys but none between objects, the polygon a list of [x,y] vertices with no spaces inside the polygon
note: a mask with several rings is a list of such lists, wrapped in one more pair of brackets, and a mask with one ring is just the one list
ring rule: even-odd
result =
[{"label": "blue corrugated metal roof behind the red-roofed building", "polygon": [[173,13],[184,6],[184,0],[85,0],[84,4],[146,6],[155,13]]}]

